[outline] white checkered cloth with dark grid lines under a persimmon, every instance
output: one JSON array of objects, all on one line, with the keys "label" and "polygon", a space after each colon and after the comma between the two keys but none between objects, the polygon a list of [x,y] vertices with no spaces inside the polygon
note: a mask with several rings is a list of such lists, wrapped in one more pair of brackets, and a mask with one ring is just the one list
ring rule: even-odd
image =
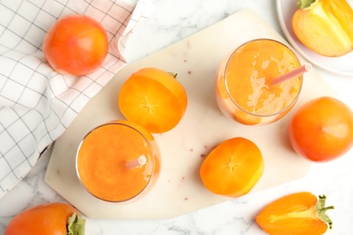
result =
[{"label": "white checkered cloth with dark grid lines under a persimmon", "polygon": [[[129,33],[150,9],[148,0],[0,0],[0,197],[126,64]],[[90,15],[110,39],[100,68],[79,79],[52,71],[43,57],[45,33],[68,14]]]}]

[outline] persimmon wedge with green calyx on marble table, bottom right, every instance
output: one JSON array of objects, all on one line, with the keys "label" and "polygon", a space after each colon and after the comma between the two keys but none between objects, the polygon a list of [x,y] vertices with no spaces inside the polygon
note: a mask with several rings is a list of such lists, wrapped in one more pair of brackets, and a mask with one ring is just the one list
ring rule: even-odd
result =
[{"label": "persimmon wedge with green calyx on marble table, bottom right", "polygon": [[292,193],[266,205],[256,216],[262,230],[272,235],[321,235],[332,227],[325,207],[326,196],[319,199],[309,192]]}]

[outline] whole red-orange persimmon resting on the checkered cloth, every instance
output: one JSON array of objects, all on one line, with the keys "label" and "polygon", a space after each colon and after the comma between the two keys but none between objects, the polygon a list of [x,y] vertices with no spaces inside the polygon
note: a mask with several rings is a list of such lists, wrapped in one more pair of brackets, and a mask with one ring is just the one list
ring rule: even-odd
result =
[{"label": "whole red-orange persimmon resting on the checkered cloth", "polygon": [[55,71],[81,76],[96,70],[109,51],[103,26],[83,14],[62,17],[43,41],[43,53]]}]

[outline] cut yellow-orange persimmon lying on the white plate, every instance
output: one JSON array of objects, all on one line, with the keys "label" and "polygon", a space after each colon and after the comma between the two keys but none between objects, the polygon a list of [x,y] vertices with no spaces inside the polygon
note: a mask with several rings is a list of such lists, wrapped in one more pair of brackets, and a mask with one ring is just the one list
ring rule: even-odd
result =
[{"label": "cut yellow-orange persimmon lying on the white plate", "polygon": [[298,0],[291,26],[313,52],[337,57],[353,51],[353,9],[346,0]]}]

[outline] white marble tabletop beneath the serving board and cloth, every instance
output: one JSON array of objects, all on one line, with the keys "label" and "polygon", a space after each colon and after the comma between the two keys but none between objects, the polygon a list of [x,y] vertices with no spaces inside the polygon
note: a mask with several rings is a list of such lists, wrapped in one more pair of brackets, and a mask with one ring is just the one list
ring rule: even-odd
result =
[{"label": "white marble tabletop beneath the serving board and cloth", "polygon": [[[245,7],[281,33],[274,0],[153,0],[154,12],[129,38],[127,57],[136,61],[157,52],[227,15]],[[282,33],[281,33],[282,34]],[[339,99],[353,108],[353,77],[341,77],[315,68],[339,93]],[[268,202],[288,193],[310,191],[326,194],[334,228],[328,234],[353,234],[353,151],[327,164],[315,164],[310,174],[296,182],[253,193],[168,220],[87,220],[86,233],[99,234],[264,234],[253,217]],[[0,234],[19,211],[44,202],[63,202],[43,178],[50,155],[43,155],[32,172],[0,199]]]}]

